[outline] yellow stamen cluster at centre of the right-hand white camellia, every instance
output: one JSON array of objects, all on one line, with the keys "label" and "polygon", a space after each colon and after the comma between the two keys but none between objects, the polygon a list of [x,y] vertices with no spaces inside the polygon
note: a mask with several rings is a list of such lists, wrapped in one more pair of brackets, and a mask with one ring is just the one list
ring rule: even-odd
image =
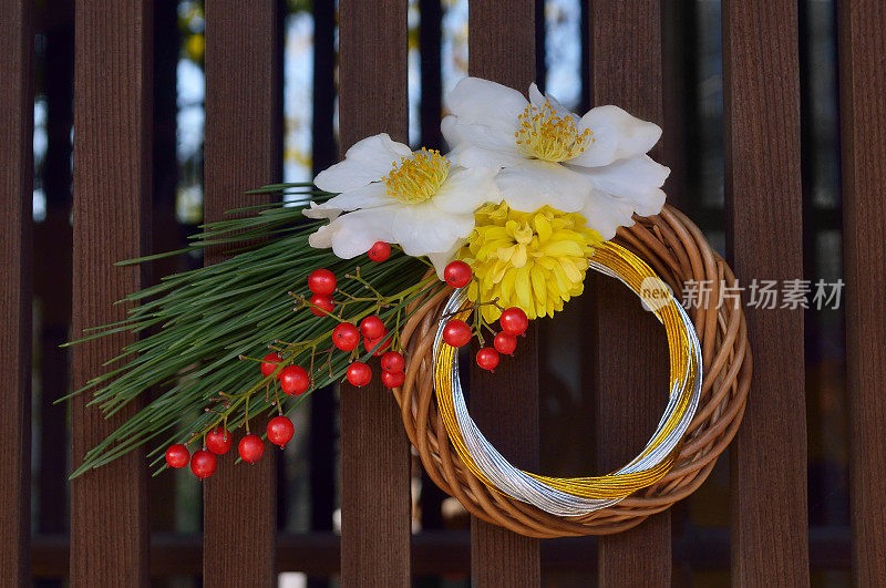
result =
[{"label": "yellow stamen cluster at centre of the right-hand white camellia", "polygon": [[514,133],[517,151],[529,157],[546,162],[566,162],[578,157],[594,143],[594,133],[585,128],[581,133],[569,115],[558,116],[545,101],[542,109],[529,104],[517,116],[519,127]]}]

